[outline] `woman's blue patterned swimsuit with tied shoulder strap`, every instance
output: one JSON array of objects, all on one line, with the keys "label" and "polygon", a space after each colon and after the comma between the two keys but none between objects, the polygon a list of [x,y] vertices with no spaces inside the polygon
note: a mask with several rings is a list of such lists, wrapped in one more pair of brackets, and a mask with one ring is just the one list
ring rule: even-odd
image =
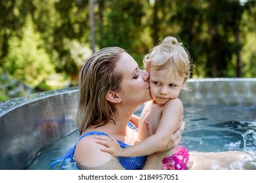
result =
[{"label": "woman's blue patterned swimsuit with tied shoulder strap", "polygon": [[[128,126],[131,127],[131,129],[135,129],[135,127],[133,126],[133,124],[131,124],[131,122],[128,123]],[[56,159],[53,163],[51,163],[51,167],[53,167],[54,165],[56,165],[58,162],[63,161],[61,168],[60,169],[65,169],[65,165],[67,161],[70,161],[70,163],[72,163],[73,168],[74,169],[80,169],[76,163],[74,163],[74,153],[75,153],[75,147],[77,145],[77,143],[83,139],[84,137],[87,137],[89,135],[106,135],[108,137],[110,137],[108,134],[100,132],[100,131],[90,131],[88,133],[85,133],[83,135],[81,135],[81,137],[78,139],[77,142],[75,142],[75,145],[72,146],[71,148],[69,148],[66,152],[66,154],[64,154],[64,156]],[[130,146],[129,144],[125,144],[122,141],[118,141],[119,145],[121,146],[121,148],[126,148],[128,146]],[[119,157],[117,158],[118,161],[121,163],[121,165],[127,169],[127,170],[139,170],[142,169],[144,167],[144,164],[146,162],[146,157],[147,156],[138,156],[138,157]]]}]

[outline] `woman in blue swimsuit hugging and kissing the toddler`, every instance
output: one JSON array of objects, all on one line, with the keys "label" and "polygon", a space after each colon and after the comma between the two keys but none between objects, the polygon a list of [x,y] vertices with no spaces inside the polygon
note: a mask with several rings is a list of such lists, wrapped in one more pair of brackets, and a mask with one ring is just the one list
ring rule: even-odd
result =
[{"label": "woman in blue swimsuit hugging and kissing the toddler", "polygon": [[[74,147],[53,164],[64,160],[75,162],[79,169],[161,169],[163,152],[150,156],[115,158],[100,148],[95,135],[107,135],[117,139],[125,148],[137,141],[133,128],[139,118],[134,118],[135,109],[152,99],[148,83],[149,74],[139,69],[137,62],[125,50],[108,47],[99,50],[81,67],[79,73],[79,106],[77,126],[80,139]],[[129,122],[133,116],[133,124]],[[181,141],[184,122],[171,136],[166,149]],[[128,125],[127,125],[128,124]],[[152,126],[146,122],[149,135]]]}]

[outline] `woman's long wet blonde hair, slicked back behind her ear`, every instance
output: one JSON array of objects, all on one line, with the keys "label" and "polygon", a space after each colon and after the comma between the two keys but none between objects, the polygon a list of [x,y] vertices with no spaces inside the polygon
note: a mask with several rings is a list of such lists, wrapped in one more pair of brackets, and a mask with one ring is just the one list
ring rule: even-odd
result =
[{"label": "woman's long wet blonde hair, slicked back behind her ear", "polygon": [[109,91],[119,91],[123,78],[115,71],[121,53],[119,47],[107,47],[95,52],[79,72],[79,101],[76,115],[77,126],[81,133],[89,125],[104,125],[115,122],[115,107],[106,99]]}]

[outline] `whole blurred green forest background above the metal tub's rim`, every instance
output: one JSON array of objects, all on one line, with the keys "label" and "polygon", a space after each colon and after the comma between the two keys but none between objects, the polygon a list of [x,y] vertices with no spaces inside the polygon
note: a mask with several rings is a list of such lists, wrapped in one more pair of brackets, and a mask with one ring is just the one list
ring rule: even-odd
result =
[{"label": "whole blurred green forest background above the metal tub's rim", "polygon": [[1,0],[0,101],[77,86],[95,50],[144,54],[173,35],[193,78],[256,77],[256,0]]}]

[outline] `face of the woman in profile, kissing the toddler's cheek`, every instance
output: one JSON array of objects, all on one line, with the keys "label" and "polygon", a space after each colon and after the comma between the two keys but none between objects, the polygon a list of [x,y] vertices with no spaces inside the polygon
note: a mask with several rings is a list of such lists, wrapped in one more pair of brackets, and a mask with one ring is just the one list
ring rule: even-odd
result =
[{"label": "face of the woman in profile, kissing the toddler's cheek", "polygon": [[125,105],[140,105],[152,99],[149,74],[140,70],[137,62],[126,52],[117,61],[116,71],[123,74],[120,95]]}]

